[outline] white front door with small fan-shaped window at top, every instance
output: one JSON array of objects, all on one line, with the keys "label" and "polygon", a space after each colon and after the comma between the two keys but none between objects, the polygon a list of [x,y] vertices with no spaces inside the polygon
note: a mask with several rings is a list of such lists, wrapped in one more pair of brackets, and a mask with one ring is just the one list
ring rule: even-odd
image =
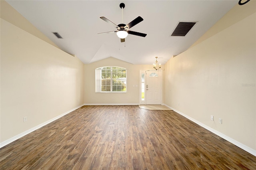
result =
[{"label": "white front door with small fan-shaped window at top", "polygon": [[146,71],[146,105],[161,104],[161,71]]}]

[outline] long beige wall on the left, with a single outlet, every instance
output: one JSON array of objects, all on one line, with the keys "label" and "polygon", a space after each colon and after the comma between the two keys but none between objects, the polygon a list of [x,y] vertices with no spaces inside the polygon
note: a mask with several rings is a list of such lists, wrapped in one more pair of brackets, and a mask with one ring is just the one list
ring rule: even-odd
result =
[{"label": "long beige wall on the left, with a single outlet", "polygon": [[2,18],[0,43],[1,142],[84,103],[78,58]]}]

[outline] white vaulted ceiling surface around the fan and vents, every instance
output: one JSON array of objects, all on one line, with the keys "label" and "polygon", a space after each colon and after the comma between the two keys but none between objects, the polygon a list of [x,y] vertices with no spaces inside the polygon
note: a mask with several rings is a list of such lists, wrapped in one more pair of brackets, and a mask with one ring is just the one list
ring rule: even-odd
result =
[{"label": "white vaulted ceiling surface around the fan and vents", "polygon": [[[7,1],[63,51],[83,63],[114,57],[132,64],[152,64],[158,56],[165,64],[170,57],[188,49],[224,16],[238,0],[18,0]],[[108,18],[116,25],[141,16],[144,21],[130,30],[147,34],[145,38],[128,34],[121,43]],[[170,37],[179,21],[198,22],[185,37]],[[63,39],[52,34],[58,32]]]}]

